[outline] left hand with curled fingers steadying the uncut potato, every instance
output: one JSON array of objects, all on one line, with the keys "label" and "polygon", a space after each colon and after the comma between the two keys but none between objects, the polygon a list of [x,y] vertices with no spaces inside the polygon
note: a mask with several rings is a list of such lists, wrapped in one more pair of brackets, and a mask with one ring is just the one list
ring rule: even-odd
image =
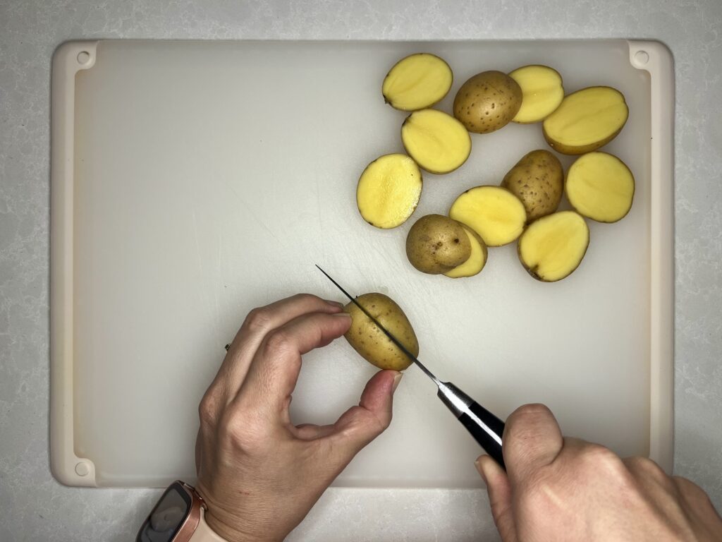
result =
[{"label": "left hand with curled fingers steadying the uncut potato", "polygon": [[401,373],[379,371],[329,426],[290,421],[301,355],[349,329],[340,304],[294,296],[248,314],[201,400],[196,489],[230,542],[282,541],[362,447],[391,423]]}]

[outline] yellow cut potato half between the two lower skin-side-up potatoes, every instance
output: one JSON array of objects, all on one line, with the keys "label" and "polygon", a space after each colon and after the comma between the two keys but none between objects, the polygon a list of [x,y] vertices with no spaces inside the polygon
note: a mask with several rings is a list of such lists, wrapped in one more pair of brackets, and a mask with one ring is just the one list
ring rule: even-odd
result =
[{"label": "yellow cut potato half between the two lower skin-side-up potatoes", "polygon": [[514,241],[523,231],[526,210],[514,194],[499,186],[477,186],[461,194],[449,216],[469,226],[487,246]]}]

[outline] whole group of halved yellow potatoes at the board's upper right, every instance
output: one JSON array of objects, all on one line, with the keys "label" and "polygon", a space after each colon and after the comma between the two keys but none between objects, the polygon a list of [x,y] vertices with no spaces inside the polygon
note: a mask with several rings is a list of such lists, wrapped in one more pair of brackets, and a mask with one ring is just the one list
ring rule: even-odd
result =
[{"label": "whole group of halved yellow potatoes at the board's upper right", "polygon": [[[617,222],[632,207],[632,172],[599,150],[625,126],[624,95],[604,86],[565,95],[559,72],[534,64],[508,74],[474,75],[458,89],[453,114],[432,108],[452,84],[451,67],[430,53],[406,56],[388,72],[383,98],[409,111],[401,125],[406,154],[383,155],[367,165],[356,192],[362,218],[377,228],[396,228],[417,208],[422,171],[443,174],[464,165],[470,133],[489,134],[510,122],[541,123],[553,151],[579,156],[566,173],[554,152],[528,152],[498,185],[471,186],[446,214],[419,218],[406,237],[406,257],[421,272],[465,278],[484,269],[487,247],[516,241],[532,277],[566,278],[586,254],[586,220]],[[573,210],[558,210],[563,195]]]}]

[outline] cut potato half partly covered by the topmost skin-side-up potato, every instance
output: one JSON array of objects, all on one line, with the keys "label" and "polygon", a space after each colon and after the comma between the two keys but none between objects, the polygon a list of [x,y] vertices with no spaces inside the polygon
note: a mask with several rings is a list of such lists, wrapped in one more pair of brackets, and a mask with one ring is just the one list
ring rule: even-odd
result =
[{"label": "cut potato half partly covered by the topmost skin-side-up potato", "polygon": [[549,66],[523,66],[509,74],[521,87],[521,108],[512,119],[528,124],[543,121],[564,99],[562,76]]}]

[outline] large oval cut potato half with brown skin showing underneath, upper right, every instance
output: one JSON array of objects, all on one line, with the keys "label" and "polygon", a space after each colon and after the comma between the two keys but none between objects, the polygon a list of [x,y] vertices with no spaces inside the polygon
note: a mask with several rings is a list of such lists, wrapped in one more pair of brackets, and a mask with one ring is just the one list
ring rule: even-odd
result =
[{"label": "large oval cut potato half with brown skin showing underneath, upper right", "polygon": [[567,95],[544,119],[544,138],[557,152],[581,155],[606,145],[627,122],[625,97],[612,87],[588,87]]}]

